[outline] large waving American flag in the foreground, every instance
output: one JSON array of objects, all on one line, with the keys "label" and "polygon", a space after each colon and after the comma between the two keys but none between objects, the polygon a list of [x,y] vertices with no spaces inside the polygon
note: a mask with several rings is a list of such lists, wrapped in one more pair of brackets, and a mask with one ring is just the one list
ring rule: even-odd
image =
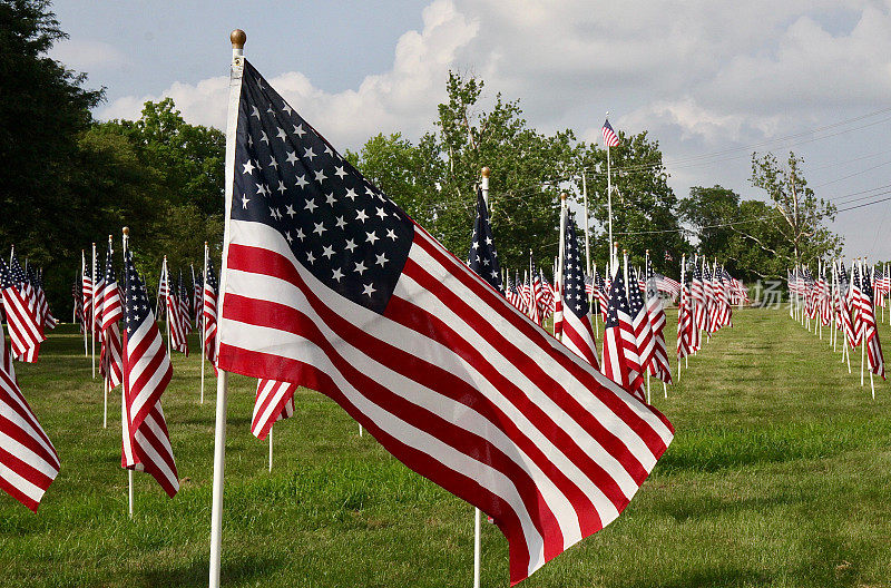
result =
[{"label": "large waving American flag in the foreground", "polygon": [[522,316],[247,62],[241,84],[219,367],[334,399],[495,519],[512,582],[614,520],[670,423]]}]

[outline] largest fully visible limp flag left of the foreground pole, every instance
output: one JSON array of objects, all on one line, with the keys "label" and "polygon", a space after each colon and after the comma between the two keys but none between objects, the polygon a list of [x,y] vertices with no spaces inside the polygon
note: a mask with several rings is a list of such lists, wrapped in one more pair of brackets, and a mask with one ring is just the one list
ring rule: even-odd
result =
[{"label": "largest fully visible limp flag left of the foreground pole", "polygon": [[124,253],[124,323],[120,464],[127,469],[140,469],[141,464],[173,498],[179,490],[179,478],[160,396],[174,371],[129,248]]}]

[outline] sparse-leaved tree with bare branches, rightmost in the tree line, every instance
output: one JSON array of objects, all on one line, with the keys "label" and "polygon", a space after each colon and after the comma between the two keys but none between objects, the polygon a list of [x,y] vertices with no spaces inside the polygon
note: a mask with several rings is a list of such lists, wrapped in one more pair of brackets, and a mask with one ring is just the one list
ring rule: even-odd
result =
[{"label": "sparse-leaved tree with bare branches, rightmost in the tree line", "polygon": [[773,154],[752,154],[752,185],[767,192],[777,216],[773,218],[785,247],[771,247],[745,227],[741,233],[768,253],[790,263],[815,262],[841,253],[842,239],[825,223],[835,218],[835,206],[817,198],[801,171],[802,159],[790,151],[785,165]]}]

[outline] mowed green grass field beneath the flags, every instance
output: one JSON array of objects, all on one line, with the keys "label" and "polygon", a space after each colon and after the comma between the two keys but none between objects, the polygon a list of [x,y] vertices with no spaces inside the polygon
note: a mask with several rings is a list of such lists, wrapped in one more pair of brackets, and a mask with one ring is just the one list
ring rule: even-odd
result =
[{"label": "mowed green grass field beneath the flags", "polygon": [[[736,312],[734,323],[667,400],[654,393],[677,437],[626,512],[523,587],[891,586],[891,386],[877,382],[873,401],[859,353],[849,375],[782,311]],[[882,335],[891,346],[891,327]],[[208,381],[199,405],[198,360],[175,355],[164,395],[183,488],[169,500],[137,473],[134,520],[120,395],[104,430],[82,340],[65,325],[38,364],[17,367],[62,470],[37,514],[0,496],[0,585],[206,586],[214,390]],[[249,432],[255,384],[231,382],[225,586],[471,585],[468,504],[309,391],[275,425],[270,474],[267,444]],[[508,585],[507,541],[491,526],[482,584]]]}]

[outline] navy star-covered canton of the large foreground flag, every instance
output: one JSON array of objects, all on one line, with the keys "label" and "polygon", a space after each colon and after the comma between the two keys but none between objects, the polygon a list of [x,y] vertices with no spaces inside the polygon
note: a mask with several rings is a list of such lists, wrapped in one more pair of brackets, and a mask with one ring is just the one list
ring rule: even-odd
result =
[{"label": "navy star-covered canton of the large foreground flag", "polygon": [[413,223],[246,61],[234,179],[232,218],[274,228],[320,282],[383,313]]}]

